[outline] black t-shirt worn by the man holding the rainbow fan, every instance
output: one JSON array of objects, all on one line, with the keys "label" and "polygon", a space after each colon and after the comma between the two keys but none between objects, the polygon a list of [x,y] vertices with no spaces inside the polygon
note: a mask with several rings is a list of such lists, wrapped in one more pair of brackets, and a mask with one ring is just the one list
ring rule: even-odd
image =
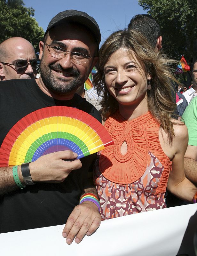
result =
[{"label": "black t-shirt worn by the man holding the rainbow fan", "polygon": [[[46,95],[34,79],[0,83],[0,145],[22,117],[49,106],[81,109],[101,122],[90,103],[75,94],[72,100],[55,100]],[[65,224],[79,204],[95,154],[81,159],[82,168],[72,171],[62,183],[36,183],[0,197],[0,233]],[[1,182],[1,181],[0,181]]]}]

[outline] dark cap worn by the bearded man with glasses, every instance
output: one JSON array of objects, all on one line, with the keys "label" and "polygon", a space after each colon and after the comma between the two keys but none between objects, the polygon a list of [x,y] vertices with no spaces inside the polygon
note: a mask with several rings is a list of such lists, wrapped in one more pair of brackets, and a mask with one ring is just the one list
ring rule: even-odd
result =
[{"label": "dark cap worn by the bearded man with glasses", "polygon": [[59,12],[57,15],[55,15],[55,17],[53,17],[52,20],[49,22],[44,36],[52,27],[61,24],[64,21],[77,22],[89,28],[99,46],[101,41],[101,34],[99,25],[97,24],[96,20],[89,16],[86,12],[80,12],[76,10],[66,10],[63,12]]}]

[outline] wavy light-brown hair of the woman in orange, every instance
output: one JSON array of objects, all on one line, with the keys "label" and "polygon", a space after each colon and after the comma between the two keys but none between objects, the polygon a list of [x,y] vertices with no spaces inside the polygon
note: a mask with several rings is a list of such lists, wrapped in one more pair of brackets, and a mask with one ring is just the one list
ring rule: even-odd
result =
[{"label": "wavy light-brown hair of the woman in orange", "polygon": [[176,109],[176,104],[172,101],[172,83],[176,79],[170,72],[170,66],[175,64],[175,60],[168,59],[161,52],[155,53],[146,38],[136,30],[114,32],[99,50],[98,72],[94,76],[94,84],[98,94],[103,93],[101,112],[104,120],[118,109],[118,102],[108,92],[105,84],[104,66],[109,57],[120,48],[127,50],[128,55],[135,56],[145,73],[151,76],[151,90],[147,90],[148,109],[168,134],[171,144],[174,138],[174,123],[171,118]]}]

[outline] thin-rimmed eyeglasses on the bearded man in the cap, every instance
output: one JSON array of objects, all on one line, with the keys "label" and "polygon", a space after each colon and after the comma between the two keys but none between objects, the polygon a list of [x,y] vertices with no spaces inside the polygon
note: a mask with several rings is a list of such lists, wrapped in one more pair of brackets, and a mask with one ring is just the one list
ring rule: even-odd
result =
[{"label": "thin-rimmed eyeglasses on the bearded man in the cap", "polygon": [[[46,43],[44,43],[44,44],[46,44]],[[50,53],[50,56],[54,57],[56,59],[63,59],[66,56],[67,52],[70,53],[71,59],[76,60],[77,62],[81,61],[83,63],[86,63],[89,58],[92,58],[91,56],[85,55],[85,54],[80,53],[80,52],[67,51],[63,48],[60,48],[59,46],[52,46],[52,45],[49,45],[49,44],[46,44],[46,46],[47,46],[47,49]]]}]

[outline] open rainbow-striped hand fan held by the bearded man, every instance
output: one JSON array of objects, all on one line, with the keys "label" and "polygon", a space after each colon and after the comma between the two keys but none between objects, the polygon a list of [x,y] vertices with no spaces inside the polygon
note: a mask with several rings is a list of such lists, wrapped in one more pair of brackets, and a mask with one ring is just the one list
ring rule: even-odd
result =
[{"label": "open rainbow-striped hand fan held by the bearded man", "polygon": [[105,127],[82,110],[42,108],[23,117],[8,132],[0,148],[0,167],[33,162],[62,150],[72,150],[80,159],[113,143]]}]

